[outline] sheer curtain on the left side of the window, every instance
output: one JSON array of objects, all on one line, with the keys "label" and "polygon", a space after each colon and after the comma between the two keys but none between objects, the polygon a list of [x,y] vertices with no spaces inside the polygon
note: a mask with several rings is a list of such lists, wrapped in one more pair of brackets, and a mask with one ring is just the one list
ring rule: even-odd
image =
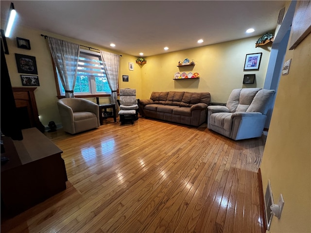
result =
[{"label": "sheer curtain on the left side of the window", "polygon": [[65,89],[65,97],[73,98],[73,89],[77,78],[80,46],[53,37],[48,37],[48,41],[55,66]]}]

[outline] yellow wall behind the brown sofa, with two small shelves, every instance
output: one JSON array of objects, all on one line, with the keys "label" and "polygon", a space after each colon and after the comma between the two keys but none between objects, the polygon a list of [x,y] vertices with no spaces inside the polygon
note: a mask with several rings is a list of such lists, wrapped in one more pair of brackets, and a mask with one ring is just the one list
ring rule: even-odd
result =
[{"label": "yellow wall behind the brown sofa, with two small shelves", "polygon": [[[209,92],[211,101],[226,102],[234,88],[262,88],[271,45],[255,48],[259,37],[148,57],[147,64],[141,68],[143,99],[149,99],[153,91],[190,91]],[[262,52],[259,71],[243,71],[245,55],[258,52]],[[185,58],[193,59],[195,66],[177,67],[178,61]],[[198,72],[200,79],[173,80],[175,72],[190,71]],[[256,83],[242,84],[244,74],[256,74]]]}]

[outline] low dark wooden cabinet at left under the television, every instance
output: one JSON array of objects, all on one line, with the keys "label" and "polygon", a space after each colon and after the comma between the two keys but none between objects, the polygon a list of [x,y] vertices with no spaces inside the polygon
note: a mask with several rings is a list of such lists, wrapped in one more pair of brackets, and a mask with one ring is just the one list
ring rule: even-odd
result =
[{"label": "low dark wooden cabinet at left under the television", "polygon": [[66,189],[60,150],[36,128],[22,130],[23,140],[2,137],[9,158],[1,164],[1,214],[17,215]]}]

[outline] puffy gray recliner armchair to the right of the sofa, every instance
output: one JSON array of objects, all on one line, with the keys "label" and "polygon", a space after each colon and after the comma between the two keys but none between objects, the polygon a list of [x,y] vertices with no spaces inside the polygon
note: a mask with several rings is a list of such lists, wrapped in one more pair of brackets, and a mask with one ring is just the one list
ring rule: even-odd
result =
[{"label": "puffy gray recliner armchair to the right of the sofa", "polygon": [[234,140],[260,137],[275,91],[234,89],[226,106],[207,107],[207,128]]}]

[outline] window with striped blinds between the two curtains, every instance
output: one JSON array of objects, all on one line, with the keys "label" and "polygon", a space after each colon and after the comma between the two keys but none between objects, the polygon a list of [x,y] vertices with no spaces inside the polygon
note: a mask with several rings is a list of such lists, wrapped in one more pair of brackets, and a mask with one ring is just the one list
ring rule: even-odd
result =
[{"label": "window with striped blinds between the two curtains", "polygon": [[[60,81],[58,72],[57,78],[60,95],[64,96],[65,89]],[[74,85],[74,95],[110,96],[110,94],[111,90],[100,54],[88,50],[80,50],[77,79]]]}]

